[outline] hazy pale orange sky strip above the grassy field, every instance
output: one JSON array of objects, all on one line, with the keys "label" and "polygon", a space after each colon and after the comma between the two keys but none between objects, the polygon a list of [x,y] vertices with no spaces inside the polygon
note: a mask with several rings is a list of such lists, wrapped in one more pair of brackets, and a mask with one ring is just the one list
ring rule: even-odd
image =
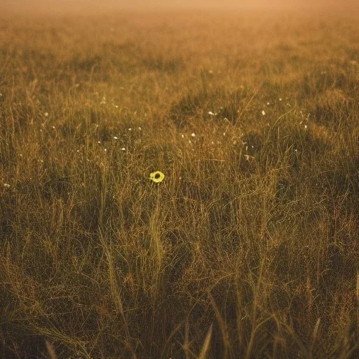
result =
[{"label": "hazy pale orange sky strip above the grassy field", "polygon": [[359,10],[359,0],[0,0],[1,13],[77,13],[121,8],[312,8]]}]

